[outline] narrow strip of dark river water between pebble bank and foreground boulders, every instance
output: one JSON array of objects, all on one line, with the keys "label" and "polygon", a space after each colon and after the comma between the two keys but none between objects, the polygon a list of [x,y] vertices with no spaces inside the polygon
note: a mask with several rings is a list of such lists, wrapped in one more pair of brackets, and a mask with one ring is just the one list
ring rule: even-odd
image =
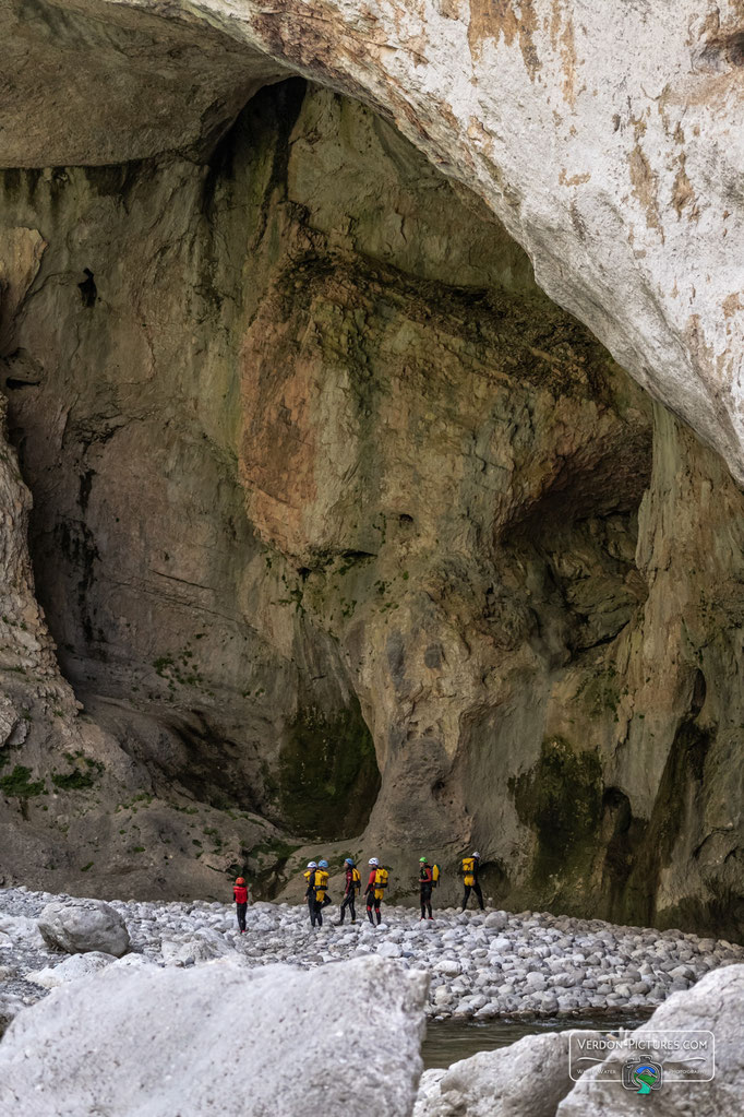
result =
[{"label": "narrow strip of dark river water between pebble bank and foreground boulders", "polygon": [[460,1021],[431,1021],[422,1046],[424,1070],[433,1067],[450,1067],[460,1059],[470,1059],[479,1051],[494,1051],[509,1047],[523,1035],[540,1032],[562,1032],[569,1028],[592,1029],[600,1032],[616,1032],[619,1028],[638,1028],[648,1016],[577,1016],[560,1020],[497,1020],[483,1024],[465,1024]]}]

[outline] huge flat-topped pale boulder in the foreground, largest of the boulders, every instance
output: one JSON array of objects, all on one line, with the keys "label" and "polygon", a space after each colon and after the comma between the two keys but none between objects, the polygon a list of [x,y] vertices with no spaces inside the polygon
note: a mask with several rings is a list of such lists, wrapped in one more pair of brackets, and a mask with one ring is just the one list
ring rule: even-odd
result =
[{"label": "huge flat-topped pale boulder in the foreground, largest of the boulders", "polygon": [[313,971],[114,964],[11,1024],[0,1114],[408,1117],[427,987],[376,957]]}]

